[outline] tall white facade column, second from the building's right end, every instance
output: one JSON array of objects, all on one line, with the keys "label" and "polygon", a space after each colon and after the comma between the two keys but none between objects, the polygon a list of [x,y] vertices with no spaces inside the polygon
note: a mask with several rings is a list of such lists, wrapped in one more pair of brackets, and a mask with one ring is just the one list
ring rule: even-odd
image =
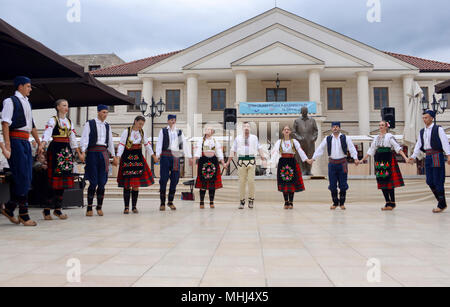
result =
[{"label": "tall white facade column, second from the building's right end", "polygon": [[359,134],[369,135],[370,133],[370,103],[369,103],[369,73],[358,72],[358,114],[359,114]]}]

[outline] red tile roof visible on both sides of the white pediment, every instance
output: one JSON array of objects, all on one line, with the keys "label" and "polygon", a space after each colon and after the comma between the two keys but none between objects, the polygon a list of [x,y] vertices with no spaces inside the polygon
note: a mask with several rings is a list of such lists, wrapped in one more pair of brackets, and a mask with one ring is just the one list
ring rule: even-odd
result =
[{"label": "red tile roof visible on both sides of the white pediment", "polygon": [[[137,73],[143,70],[144,68],[154,65],[162,60],[165,60],[179,52],[181,52],[181,50],[160,54],[157,56],[152,56],[149,58],[125,64],[107,67],[92,71],[91,74],[94,75],[95,77],[136,76]],[[421,72],[450,72],[450,63],[427,60],[410,55],[404,55],[387,51],[385,51],[385,53],[419,68]]]}]

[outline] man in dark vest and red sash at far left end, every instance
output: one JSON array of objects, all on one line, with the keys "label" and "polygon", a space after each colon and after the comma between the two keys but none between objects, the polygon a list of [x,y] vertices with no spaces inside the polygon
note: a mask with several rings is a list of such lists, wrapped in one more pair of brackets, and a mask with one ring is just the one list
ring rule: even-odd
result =
[{"label": "man in dark vest and red sash at far left end", "polygon": [[[28,215],[27,201],[33,174],[30,134],[38,145],[41,141],[34,125],[31,104],[28,100],[32,90],[31,80],[27,77],[16,77],[14,86],[16,88],[14,96],[3,101],[2,130],[6,152],[10,153],[8,164],[13,182],[11,201],[1,210],[1,213],[14,224],[36,226],[37,223]],[[17,206],[19,206],[18,219],[14,217]]]}]

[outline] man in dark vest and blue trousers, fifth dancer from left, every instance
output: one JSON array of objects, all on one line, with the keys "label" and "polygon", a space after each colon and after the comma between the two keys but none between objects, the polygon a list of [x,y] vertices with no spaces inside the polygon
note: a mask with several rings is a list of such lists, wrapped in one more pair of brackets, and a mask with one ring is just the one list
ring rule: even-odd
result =
[{"label": "man in dark vest and blue trousers, fifth dancer from left", "polygon": [[187,144],[183,131],[176,128],[176,115],[167,117],[168,126],[159,132],[158,143],[156,144],[156,157],[161,162],[160,166],[160,199],[161,211],[166,210],[166,189],[170,179],[169,197],[167,205],[171,210],[177,208],[173,204],[178,181],[180,180],[180,159],[185,156],[189,158],[189,165],[192,163],[191,148]]}]

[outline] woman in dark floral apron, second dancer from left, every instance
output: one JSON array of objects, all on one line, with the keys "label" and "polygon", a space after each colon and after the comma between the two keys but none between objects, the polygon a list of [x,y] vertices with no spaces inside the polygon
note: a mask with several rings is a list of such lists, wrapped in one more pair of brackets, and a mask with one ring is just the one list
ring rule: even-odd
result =
[{"label": "woman in dark floral apron, second dancer from left", "polygon": [[[55,109],[57,115],[48,120],[41,147],[45,148],[50,143],[47,149],[47,175],[49,188],[51,189],[51,201],[49,203],[53,204],[53,215],[65,220],[67,215],[62,213],[64,190],[73,188],[73,151],[76,150],[80,155],[80,149],[72,122],[67,117],[69,103],[65,99],[59,99],[55,103]],[[50,139],[52,140],[50,141]],[[50,206],[44,209],[45,220],[52,220],[50,210]]]}]

